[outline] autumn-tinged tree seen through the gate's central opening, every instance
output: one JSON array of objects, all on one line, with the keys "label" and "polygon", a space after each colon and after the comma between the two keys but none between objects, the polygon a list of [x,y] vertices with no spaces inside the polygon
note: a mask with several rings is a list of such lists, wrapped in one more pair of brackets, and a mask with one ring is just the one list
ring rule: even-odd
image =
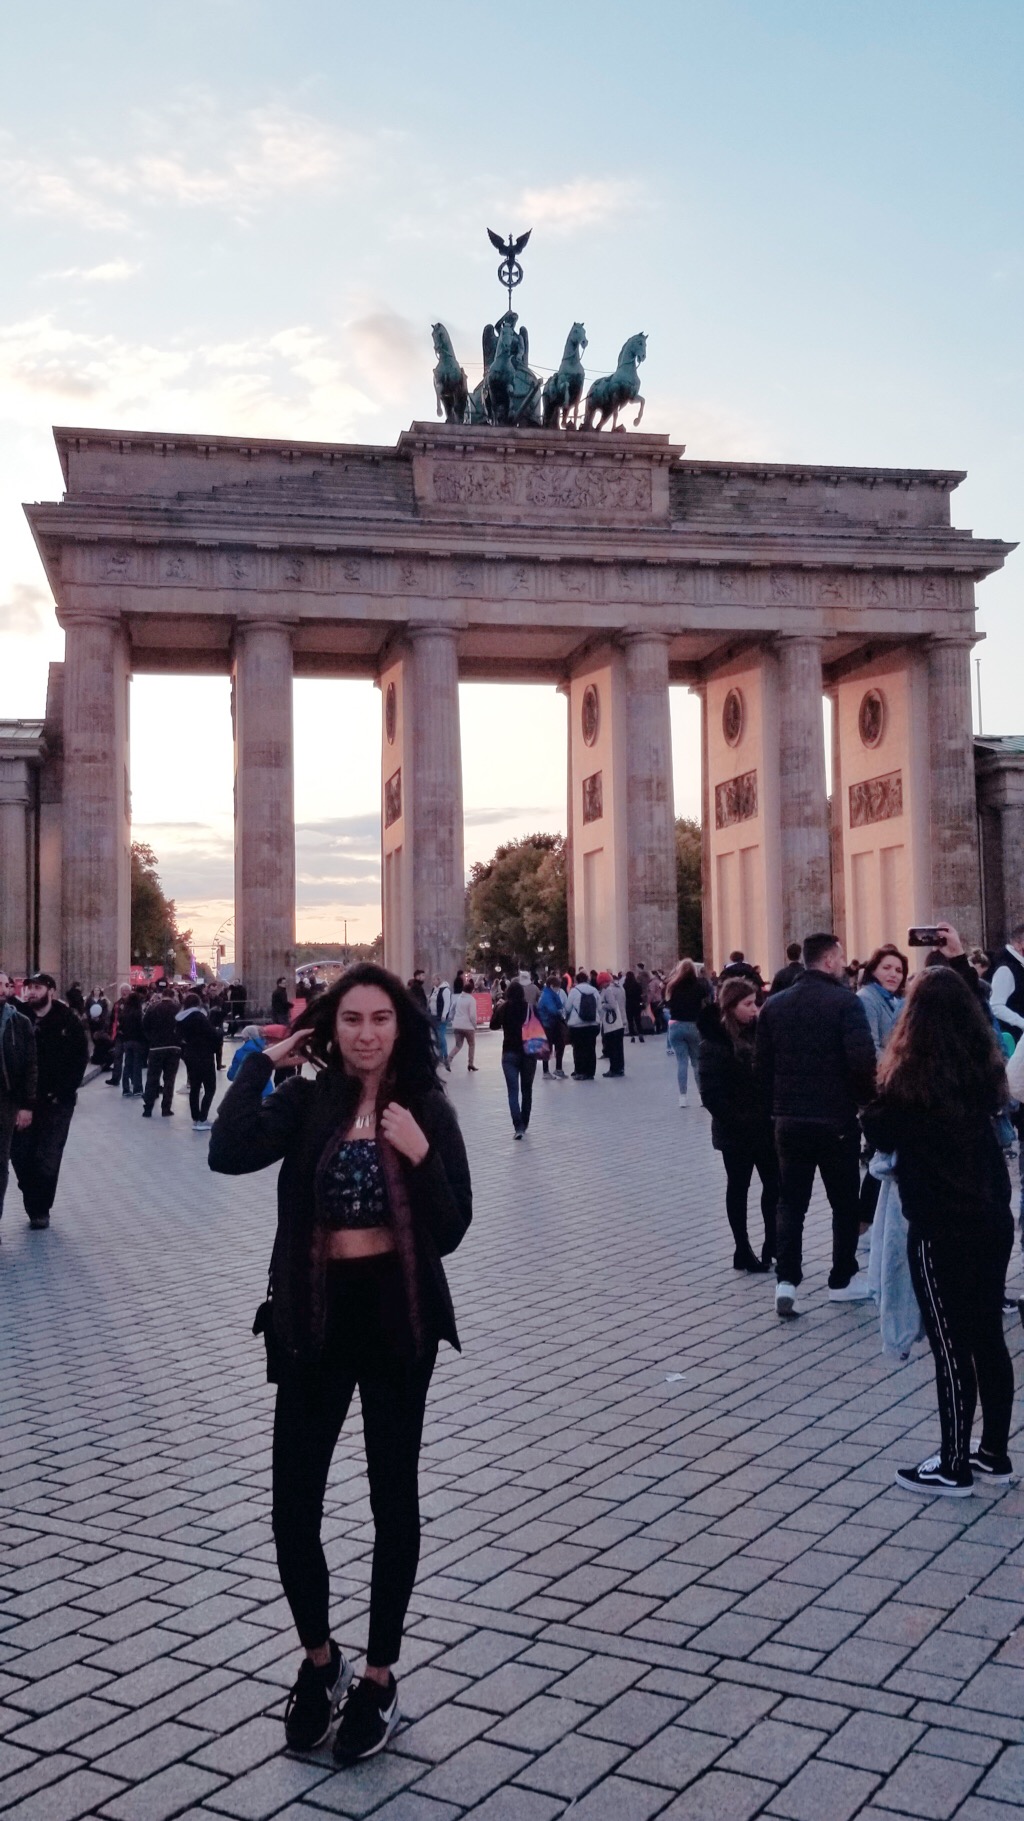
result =
[{"label": "autumn-tinged tree seen through the gate's central opening", "polygon": [[561,834],[525,834],[505,841],[492,860],[477,860],[466,887],[466,940],[476,967],[567,960]]}]

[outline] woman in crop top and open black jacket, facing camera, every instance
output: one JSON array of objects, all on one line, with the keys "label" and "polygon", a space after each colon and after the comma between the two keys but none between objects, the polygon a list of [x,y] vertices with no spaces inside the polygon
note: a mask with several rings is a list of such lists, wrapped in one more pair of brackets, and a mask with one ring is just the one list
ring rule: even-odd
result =
[{"label": "woman in crop top and open black jacket, facing camera", "polygon": [[[273,1069],[312,1062],[264,1100]],[[361,965],[250,1056],[226,1094],[210,1167],[281,1164],[270,1266],[273,1539],[306,1652],[284,1712],[292,1750],[323,1745],[352,1681],[330,1635],[321,1544],[332,1455],[359,1386],[374,1511],[366,1668],[344,1699],[339,1765],[383,1750],[399,1721],[394,1666],[419,1562],[419,1444],[441,1340],[459,1346],[441,1258],[463,1240],[472,1185],[437,1082],[430,1018],[383,967]]]}]

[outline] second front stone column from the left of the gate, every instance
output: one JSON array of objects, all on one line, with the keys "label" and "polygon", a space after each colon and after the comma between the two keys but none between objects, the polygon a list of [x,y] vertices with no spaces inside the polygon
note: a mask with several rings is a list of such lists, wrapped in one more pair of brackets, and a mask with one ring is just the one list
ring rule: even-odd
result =
[{"label": "second front stone column from the left of the gate", "polygon": [[268,1011],[295,961],[295,778],[292,630],[279,619],[235,628],[235,974],[248,1009]]}]

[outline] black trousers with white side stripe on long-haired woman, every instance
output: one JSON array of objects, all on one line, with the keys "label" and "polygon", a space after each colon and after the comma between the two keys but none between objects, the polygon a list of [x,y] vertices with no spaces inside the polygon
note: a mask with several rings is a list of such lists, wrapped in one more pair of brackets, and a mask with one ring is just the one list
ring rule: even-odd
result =
[{"label": "black trousers with white side stripe on long-haired woman", "polygon": [[1002,1286],[1011,1251],[1009,1215],[969,1242],[909,1229],[911,1278],[935,1357],[942,1468],[957,1477],[969,1466],[978,1399],[986,1455],[1002,1459],[1009,1442],[1013,1360],[1002,1333]]}]

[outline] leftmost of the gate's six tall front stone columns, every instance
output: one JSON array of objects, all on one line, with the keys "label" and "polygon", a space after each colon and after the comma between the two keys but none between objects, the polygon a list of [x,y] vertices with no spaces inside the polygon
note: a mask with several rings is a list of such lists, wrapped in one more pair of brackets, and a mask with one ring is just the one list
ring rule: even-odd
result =
[{"label": "leftmost of the gate's six tall front stone columns", "polygon": [[129,967],[128,639],[117,614],[75,617],[66,636],[60,987],[87,992]]}]

